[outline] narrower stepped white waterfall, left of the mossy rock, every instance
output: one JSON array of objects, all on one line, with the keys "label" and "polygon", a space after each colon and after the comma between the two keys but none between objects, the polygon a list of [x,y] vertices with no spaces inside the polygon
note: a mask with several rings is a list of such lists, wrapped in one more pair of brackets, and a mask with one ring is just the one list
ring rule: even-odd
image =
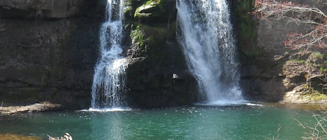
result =
[{"label": "narrower stepped white waterfall, left of the mossy rock", "polygon": [[121,56],[123,0],[107,0],[106,21],[100,27],[100,58],[92,85],[91,108],[123,107],[127,59]]}]

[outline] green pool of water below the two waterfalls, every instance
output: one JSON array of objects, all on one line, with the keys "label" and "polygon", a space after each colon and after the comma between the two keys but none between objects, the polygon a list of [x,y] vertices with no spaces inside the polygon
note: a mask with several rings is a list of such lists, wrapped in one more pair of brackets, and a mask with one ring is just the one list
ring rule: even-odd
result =
[{"label": "green pool of water below the two waterfalls", "polygon": [[[13,119],[15,118],[15,119]],[[131,111],[66,111],[0,117],[0,134],[46,137],[69,132],[74,140],[301,139],[312,112],[286,107],[178,107]],[[280,130],[277,129],[280,127]]]}]

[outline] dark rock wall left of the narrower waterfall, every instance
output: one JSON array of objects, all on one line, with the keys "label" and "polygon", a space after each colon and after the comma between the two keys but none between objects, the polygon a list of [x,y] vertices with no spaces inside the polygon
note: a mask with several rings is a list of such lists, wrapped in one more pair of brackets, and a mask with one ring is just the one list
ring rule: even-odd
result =
[{"label": "dark rock wall left of the narrower waterfall", "polygon": [[[61,1],[66,5],[54,6],[57,2],[0,1],[3,105],[50,101],[71,109],[89,107],[101,20],[72,16],[82,10],[95,13],[97,3],[86,8],[80,4],[89,1]],[[76,10],[63,10],[68,6]],[[34,13],[37,10],[49,13],[40,17]]]}]

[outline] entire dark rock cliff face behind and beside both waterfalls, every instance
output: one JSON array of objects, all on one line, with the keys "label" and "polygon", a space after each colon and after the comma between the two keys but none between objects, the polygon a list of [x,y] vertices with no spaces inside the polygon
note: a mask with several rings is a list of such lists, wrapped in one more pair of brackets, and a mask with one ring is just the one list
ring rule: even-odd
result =
[{"label": "entire dark rock cliff face behind and beside both waterfalls", "polygon": [[[105,2],[0,0],[1,105],[50,101],[69,109],[88,108]],[[175,2],[125,1],[123,50],[130,59],[127,101],[132,107],[177,106],[197,99],[197,82],[176,41]],[[299,54],[282,42],[287,33],[312,27],[287,19],[267,22],[249,17],[252,0],[231,1],[231,6],[246,98],[277,102],[311,92],[305,88],[307,74],[302,67],[325,62],[326,50]],[[318,6],[327,9],[326,4]],[[312,70],[324,68],[317,65]],[[317,91],[321,87],[314,82]]]}]

